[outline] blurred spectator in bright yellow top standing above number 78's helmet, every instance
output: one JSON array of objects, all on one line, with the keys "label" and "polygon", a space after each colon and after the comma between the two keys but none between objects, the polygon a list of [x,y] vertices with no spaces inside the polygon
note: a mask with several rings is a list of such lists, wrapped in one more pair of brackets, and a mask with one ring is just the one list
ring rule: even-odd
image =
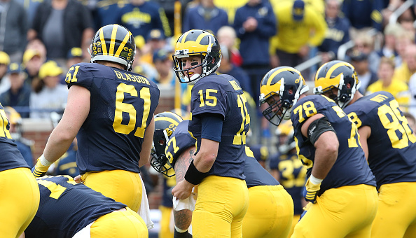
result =
[{"label": "blurred spectator in bright yellow top standing above number 78's helmet", "polygon": [[[275,6],[277,36],[272,38],[272,66],[297,66],[307,59],[309,48],[325,38],[324,16],[304,1],[282,1]],[[302,73],[309,78],[307,72]]]}]

